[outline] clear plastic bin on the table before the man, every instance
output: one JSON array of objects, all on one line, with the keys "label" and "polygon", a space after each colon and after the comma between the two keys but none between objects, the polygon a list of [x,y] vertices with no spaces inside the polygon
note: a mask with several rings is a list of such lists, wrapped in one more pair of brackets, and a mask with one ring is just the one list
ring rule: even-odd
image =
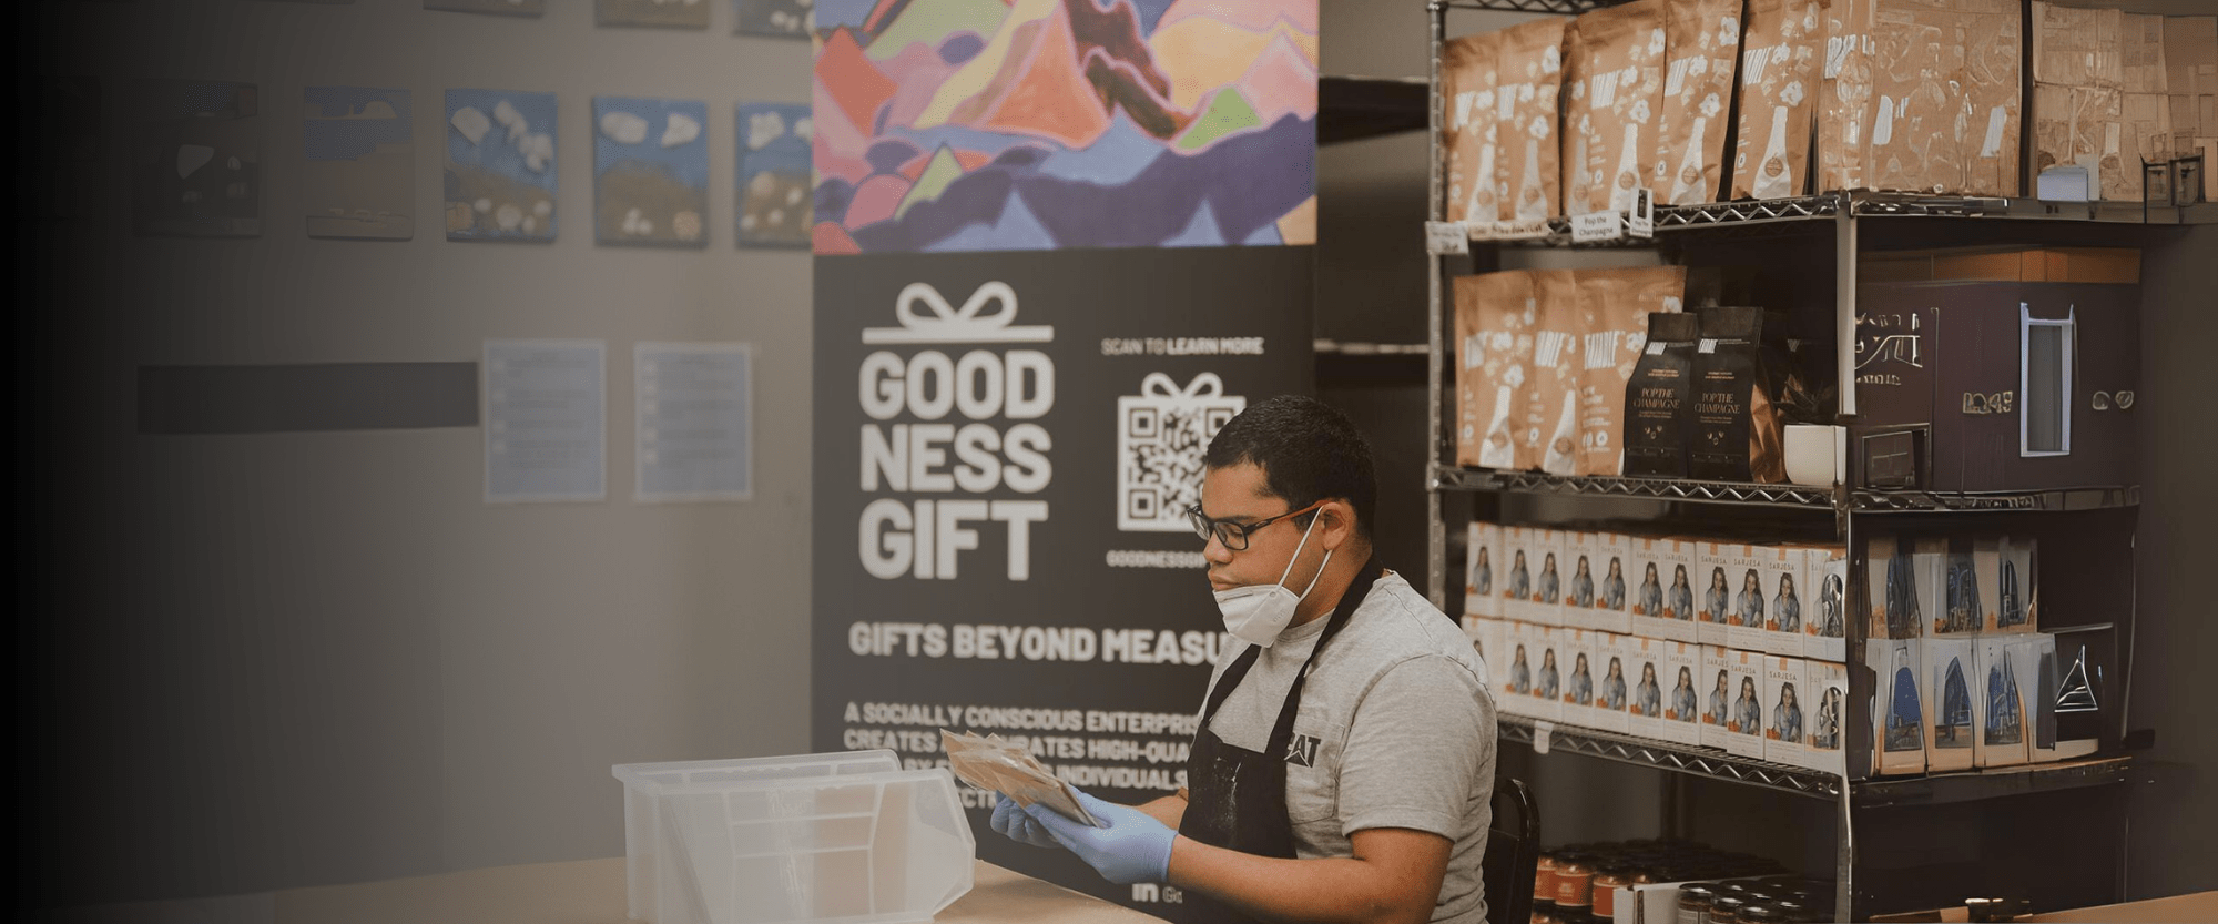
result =
[{"label": "clear plastic bin on the table before the man", "polygon": [[947,771],[892,751],[617,764],[630,915],[654,924],[923,922],[971,888]]}]

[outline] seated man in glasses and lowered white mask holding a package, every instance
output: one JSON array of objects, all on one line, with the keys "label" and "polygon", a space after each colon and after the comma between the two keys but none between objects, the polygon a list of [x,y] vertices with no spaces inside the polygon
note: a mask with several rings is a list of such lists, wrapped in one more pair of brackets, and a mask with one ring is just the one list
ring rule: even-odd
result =
[{"label": "seated man in glasses and lowered white mask holding a package", "polygon": [[1249,406],[1209,442],[1209,584],[1233,642],[1189,791],[1080,795],[1107,826],[1007,797],[994,828],[1111,882],[1169,882],[1200,920],[1484,922],[1495,706],[1462,629],[1371,558],[1377,482],[1346,415]]}]

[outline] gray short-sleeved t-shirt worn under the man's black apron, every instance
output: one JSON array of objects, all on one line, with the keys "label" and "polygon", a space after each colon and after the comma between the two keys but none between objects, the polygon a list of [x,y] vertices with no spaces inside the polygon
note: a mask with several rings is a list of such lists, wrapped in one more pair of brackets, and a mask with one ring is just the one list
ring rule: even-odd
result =
[{"label": "gray short-sleeved t-shirt worn under the man's black apron", "polygon": [[[1286,629],[1224,697],[1209,731],[1262,751],[1324,617]],[[1233,640],[1211,673],[1249,644]],[[1286,762],[1295,855],[1349,857],[1349,835],[1415,828],[1455,842],[1433,922],[1486,920],[1479,857],[1493,824],[1495,702],[1464,631],[1402,575],[1371,586],[1302,684]]]}]

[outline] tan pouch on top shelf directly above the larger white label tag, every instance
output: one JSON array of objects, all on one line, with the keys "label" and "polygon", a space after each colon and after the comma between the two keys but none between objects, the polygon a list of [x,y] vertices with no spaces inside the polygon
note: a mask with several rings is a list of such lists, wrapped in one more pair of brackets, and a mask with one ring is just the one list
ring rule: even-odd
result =
[{"label": "tan pouch on top shelf directly above the larger white label tag", "polygon": [[1664,0],[1584,13],[1564,49],[1564,213],[1630,211],[1664,102]]}]

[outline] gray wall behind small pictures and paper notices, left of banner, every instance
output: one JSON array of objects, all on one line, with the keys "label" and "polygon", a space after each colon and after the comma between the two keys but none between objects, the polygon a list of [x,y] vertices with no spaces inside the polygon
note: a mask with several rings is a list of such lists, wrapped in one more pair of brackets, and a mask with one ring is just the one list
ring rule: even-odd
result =
[{"label": "gray wall behind small pictures and paper notices, left of banner", "polygon": [[[244,893],[623,853],[610,764],[807,751],[810,258],[732,242],[732,104],[807,102],[810,44],[597,29],[413,0],[71,2],[60,73],[102,78],[73,324],[80,562],[58,600],[73,900]],[[135,238],[129,80],[260,84],[257,240]],[[410,242],[308,240],[306,84],[406,87]],[[446,242],[450,87],[559,96],[561,240]],[[708,102],[710,244],[592,242],[590,98]],[[488,506],[479,429],[138,435],[140,364],[475,362],[608,340],[608,500]],[[756,346],[756,493],[634,504],[637,340]],[[98,820],[100,824],[87,824]]]}]

